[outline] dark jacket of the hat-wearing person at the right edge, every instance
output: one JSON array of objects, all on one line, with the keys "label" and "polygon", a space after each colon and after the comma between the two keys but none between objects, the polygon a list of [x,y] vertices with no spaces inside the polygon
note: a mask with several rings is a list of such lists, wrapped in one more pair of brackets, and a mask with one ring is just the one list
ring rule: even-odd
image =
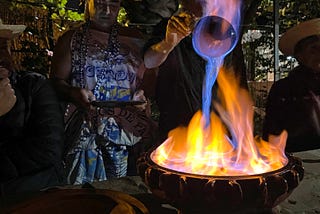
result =
[{"label": "dark jacket of the hat-wearing person at the right edge", "polygon": [[[318,99],[318,100],[317,100]],[[263,138],[288,131],[286,151],[320,148],[320,74],[299,66],[271,87]]]}]

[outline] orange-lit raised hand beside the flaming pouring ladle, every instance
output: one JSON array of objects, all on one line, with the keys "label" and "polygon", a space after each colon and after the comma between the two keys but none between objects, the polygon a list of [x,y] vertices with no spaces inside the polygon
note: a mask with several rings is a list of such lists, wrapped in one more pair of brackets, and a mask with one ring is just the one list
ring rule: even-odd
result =
[{"label": "orange-lit raised hand beside the flaming pouring ladle", "polygon": [[172,16],[167,24],[165,41],[168,44],[178,44],[183,38],[190,35],[195,22],[195,16],[186,12]]}]

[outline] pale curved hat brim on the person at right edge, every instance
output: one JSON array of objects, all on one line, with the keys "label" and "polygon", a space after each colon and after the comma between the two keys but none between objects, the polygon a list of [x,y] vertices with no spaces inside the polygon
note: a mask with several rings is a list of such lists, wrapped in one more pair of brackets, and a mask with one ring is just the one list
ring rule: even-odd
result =
[{"label": "pale curved hat brim on the person at right edge", "polygon": [[313,35],[320,35],[320,18],[301,22],[285,32],[280,38],[279,49],[283,54],[293,56],[296,44]]}]

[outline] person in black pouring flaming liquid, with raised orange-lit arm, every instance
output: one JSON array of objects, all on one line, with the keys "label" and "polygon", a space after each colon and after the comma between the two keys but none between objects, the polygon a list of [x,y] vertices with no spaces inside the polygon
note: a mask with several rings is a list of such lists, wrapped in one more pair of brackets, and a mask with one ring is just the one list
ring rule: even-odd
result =
[{"label": "person in black pouring flaming liquid, with raised orange-lit arm", "polygon": [[156,102],[159,107],[160,142],[168,132],[188,125],[194,113],[201,109],[202,81],[206,62],[193,49],[191,32],[197,18],[202,16],[202,1],[183,0],[182,11],[172,16],[163,35],[154,38],[144,54],[147,68],[159,66],[156,83]]}]

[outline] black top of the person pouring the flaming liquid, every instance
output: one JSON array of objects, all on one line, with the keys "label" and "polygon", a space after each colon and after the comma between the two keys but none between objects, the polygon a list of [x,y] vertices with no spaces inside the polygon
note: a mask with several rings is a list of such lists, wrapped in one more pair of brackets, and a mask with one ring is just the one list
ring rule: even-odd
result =
[{"label": "black top of the person pouring the flaming liquid", "polygon": [[193,50],[191,37],[184,38],[159,67],[156,101],[162,137],[178,126],[187,126],[201,110],[205,61]]}]

